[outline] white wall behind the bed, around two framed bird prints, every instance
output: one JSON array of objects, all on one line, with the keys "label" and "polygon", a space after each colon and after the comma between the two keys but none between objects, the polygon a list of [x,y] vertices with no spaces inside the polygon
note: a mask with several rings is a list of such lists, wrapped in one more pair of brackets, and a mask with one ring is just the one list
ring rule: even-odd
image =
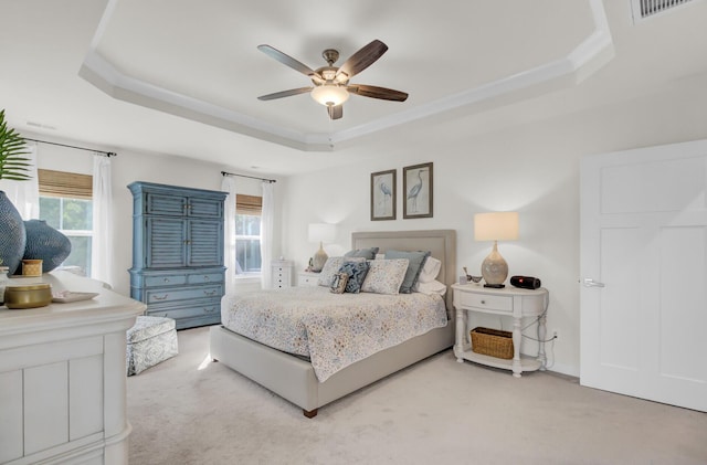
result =
[{"label": "white wall behind the bed, around two framed bird prints", "polygon": [[[579,162],[581,157],[632,147],[707,137],[707,94],[674,91],[611,107],[485,135],[471,135],[474,118],[432,129],[399,130],[394,145],[368,144],[345,156],[357,160],[289,179],[284,253],[304,267],[317,244],[307,224],[338,224],[333,254],[348,250],[350,233],[367,230],[454,229],[457,267],[479,270],[490,243],[473,237],[477,212],[517,210],[520,239],[499,244],[510,275],[532,275],[550,292],[548,345],[552,368],[579,376]],[[420,129],[420,130],[416,130]],[[402,219],[402,167],[434,162],[434,218]],[[370,221],[370,173],[398,169],[398,220]],[[326,193],[326,194],[323,194]],[[498,324],[498,321],[494,321]],[[509,328],[510,323],[505,323]],[[531,335],[531,331],[527,331]],[[524,339],[534,353],[535,342]]]}]

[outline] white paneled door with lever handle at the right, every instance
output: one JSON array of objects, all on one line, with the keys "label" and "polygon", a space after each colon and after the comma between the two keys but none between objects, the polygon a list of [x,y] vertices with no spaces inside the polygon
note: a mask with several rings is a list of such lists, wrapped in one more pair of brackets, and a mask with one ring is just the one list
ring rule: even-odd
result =
[{"label": "white paneled door with lever handle at the right", "polygon": [[707,140],[581,166],[583,385],[707,411]]}]

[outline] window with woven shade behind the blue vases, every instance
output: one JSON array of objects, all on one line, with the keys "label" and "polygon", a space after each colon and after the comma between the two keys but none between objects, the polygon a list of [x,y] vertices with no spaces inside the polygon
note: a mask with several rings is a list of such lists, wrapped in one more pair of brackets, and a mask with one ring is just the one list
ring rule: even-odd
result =
[{"label": "window with woven shade behind the blue vases", "polygon": [[93,240],[93,178],[73,172],[38,170],[40,220],[71,241],[71,254],[62,266],[77,267],[91,276]]}]

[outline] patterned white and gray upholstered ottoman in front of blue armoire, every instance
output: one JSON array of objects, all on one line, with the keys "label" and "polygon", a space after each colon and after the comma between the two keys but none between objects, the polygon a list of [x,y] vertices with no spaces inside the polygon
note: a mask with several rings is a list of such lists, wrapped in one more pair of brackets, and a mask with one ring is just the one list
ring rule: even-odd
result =
[{"label": "patterned white and gray upholstered ottoman in front of blue armoire", "polygon": [[128,377],[179,353],[171,318],[139,316],[127,330],[127,339]]}]

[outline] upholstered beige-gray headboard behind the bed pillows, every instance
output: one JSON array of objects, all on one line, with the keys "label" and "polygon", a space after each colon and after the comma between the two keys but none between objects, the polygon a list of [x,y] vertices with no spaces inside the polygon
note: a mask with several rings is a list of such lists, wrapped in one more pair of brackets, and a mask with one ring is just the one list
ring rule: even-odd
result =
[{"label": "upholstered beige-gray headboard behind the bed pillows", "polygon": [[[456,275],[456,231],[363,231],[351,233],[352,249],[379,247],[379,253],[388,249],[399,251],[430,251],[431,255],[442,261],[442,270],[437,281],[451,286]],[[446,293],[446,307],[452,309],[452,289]]]}]

